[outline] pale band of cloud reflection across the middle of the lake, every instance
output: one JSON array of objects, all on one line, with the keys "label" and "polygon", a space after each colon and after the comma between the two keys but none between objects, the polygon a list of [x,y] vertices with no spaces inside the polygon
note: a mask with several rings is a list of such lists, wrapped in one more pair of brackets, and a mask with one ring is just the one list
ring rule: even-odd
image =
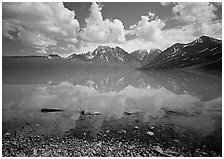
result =
[{"label": "pale band of cloud reflection across the middle of the lake", "polygon": [[54,87],[48,86],[36,95],[33,102],[41,101],[47,107],[72,112],[93,109],[117,118],[122,117],[125,110],[144,111],[147,115],[155,116],[162,108],[195,115],[200,114],[205,105],[195,97],[187,94],[176,95],[165,88],[138,89],[128,86],[120,92],[98,93],[93,88],[73,86],[66,82]]}]

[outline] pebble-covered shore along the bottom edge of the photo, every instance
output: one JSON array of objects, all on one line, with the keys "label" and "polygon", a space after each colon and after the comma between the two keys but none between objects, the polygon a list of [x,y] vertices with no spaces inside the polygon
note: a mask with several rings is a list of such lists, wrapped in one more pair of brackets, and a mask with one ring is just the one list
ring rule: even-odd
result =
[{"label": "pebble-covered shore along the bottom edge of the photo", "polygon": [[170,131],[162,127],[148,127],[147,131],[146,128],[139,127],[133,130],[105,129],[94,137],[85,133],[75,135],[71,131],[63,137],[4,133],[2,155],[4,157],[221,156],[221,152],[215,153],[206,145],[196,145],[191,139],[172,139],[168,137]]}]

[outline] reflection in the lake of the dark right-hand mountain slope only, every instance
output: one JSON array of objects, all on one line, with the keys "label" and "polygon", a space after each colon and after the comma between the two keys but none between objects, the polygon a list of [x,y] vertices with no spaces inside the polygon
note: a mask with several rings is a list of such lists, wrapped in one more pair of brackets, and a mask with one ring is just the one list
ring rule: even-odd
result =
[{"label": "reflection in the lake of the dark right-hand mountain slope only", "polygon": [[[190,94],[202,101],[220,97],[221,78],[204,72],[158,71],[146,72],[143,79],[150,80],[151,87],[164,87],[175,94]],[[147,83],[147,82],[146,82]]]}]

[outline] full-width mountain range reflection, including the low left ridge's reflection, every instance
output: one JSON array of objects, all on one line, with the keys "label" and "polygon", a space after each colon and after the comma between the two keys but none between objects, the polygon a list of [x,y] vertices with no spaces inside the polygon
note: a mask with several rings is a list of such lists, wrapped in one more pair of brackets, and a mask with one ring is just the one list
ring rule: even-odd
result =
[{"label": "full-width mountain range reflection, including the low left ridge's reflection", "polygon": [[[179,94],[190,94],[202,101],[208,101],[221,94],[222,80],[216,75],[199,71],[3,71],[3,83],[48,83],[58,85],[67,81],[72,85],[88,86],[99,93],[119,92],[128,86],[135,88],[166,88]],[[6,80],[7,79],[7,80]]]}]

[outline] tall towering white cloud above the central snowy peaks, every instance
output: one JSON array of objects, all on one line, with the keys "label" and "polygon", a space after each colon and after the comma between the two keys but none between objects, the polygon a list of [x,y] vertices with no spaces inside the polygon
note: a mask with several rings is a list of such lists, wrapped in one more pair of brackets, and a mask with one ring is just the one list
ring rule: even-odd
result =
[{"label": "tall towering white cloud above the central snowy peaks", "polygon": [[123,23],[118,20],[103,19],[102,7],[92,3],[90,15],[85,20],[86,26],[80,33],[82,39],[93,43],[122,43],[125,42],[125,31]]}]

